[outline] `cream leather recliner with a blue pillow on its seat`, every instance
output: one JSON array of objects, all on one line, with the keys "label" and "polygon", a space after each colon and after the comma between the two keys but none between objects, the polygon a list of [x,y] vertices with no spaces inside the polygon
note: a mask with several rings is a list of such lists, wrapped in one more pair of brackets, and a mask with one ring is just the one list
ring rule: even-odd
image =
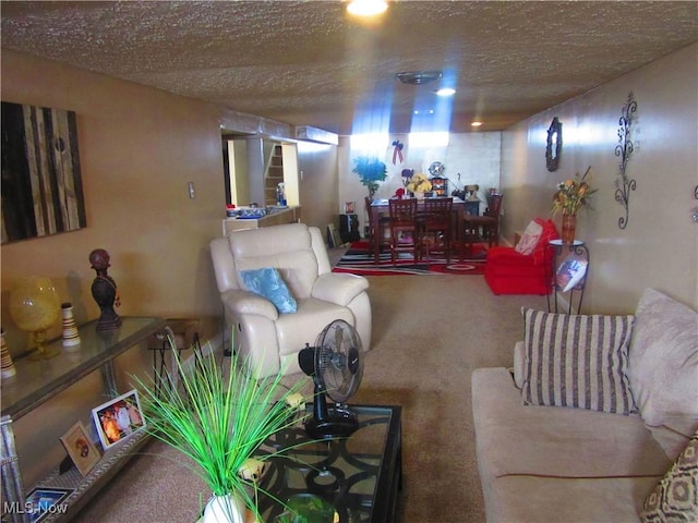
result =
[{"label": "cream leather recliner with a blue pillow on its seat", "polygon": [[[334,273],[322,233],[303,223],[233,231],[210,242],[226,323],[234,328],[234,350],[258,377],[300,372],[298,352],[313,345],[333,320],[353,325],[364,351],[371,348],[371,302],[365,278]],[[240,272],[276,268],[298,304],[279,314],[265,297],[248,291]]]}]

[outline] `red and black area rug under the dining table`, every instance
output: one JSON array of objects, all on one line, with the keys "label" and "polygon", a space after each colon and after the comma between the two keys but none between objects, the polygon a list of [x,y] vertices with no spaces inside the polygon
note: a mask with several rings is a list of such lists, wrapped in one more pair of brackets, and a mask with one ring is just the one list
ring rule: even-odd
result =
[{"label": "red and black area rug under the dining table", "polygon": [[369,242],[354,242],[339,259],[333,272],[349,272],[360,276],[396,276],[396,275],[483,275],[488,255],[486,246],[476,243],[472,252],[466,247],[464,259],[457,252],[446,262],[443,252],[432,252],[429,259],[414,260],[410,253],[398,253],[396,265],[390,262],[390,253],[383,248],[380,262],[373,260]]}]

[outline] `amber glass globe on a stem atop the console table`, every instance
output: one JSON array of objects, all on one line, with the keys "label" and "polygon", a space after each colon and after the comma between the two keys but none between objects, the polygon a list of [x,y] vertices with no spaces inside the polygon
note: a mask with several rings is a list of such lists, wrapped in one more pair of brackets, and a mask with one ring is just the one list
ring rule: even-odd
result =
[{"label": "amber glass globe on a stem atop the console table", "polygon": [[10,316],[15,325],[31,332],[36,351],[29,360],[48,360],[59,354],[58,348],[47,349],[46,330],[60,317],[61,302],[49,278],[32,276],[19,279],[10,292]]}]

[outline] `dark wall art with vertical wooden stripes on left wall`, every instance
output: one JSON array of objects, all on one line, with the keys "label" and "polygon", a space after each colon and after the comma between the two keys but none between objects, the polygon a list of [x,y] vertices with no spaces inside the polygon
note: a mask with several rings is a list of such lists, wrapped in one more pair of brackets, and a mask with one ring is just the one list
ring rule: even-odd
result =
[{"label": "dark wall art with vertical wooden stripes on left wall", "polygon": [[86,227],[75,113],[2,102],[2,243]]}]

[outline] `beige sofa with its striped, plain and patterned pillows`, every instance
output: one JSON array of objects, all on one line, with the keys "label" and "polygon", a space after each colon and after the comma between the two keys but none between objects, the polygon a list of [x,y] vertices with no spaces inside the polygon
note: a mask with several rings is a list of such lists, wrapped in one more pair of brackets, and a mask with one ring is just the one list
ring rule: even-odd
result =
[{"label": "beige sofa with its striped, plain and patterned pillows", "polygon": [[[651,289],[634,317],[522,313],[513,372],[472,374],[488,522],[698,521],[698,315]],[[643,508],[690,449],[688,499]]]}]

